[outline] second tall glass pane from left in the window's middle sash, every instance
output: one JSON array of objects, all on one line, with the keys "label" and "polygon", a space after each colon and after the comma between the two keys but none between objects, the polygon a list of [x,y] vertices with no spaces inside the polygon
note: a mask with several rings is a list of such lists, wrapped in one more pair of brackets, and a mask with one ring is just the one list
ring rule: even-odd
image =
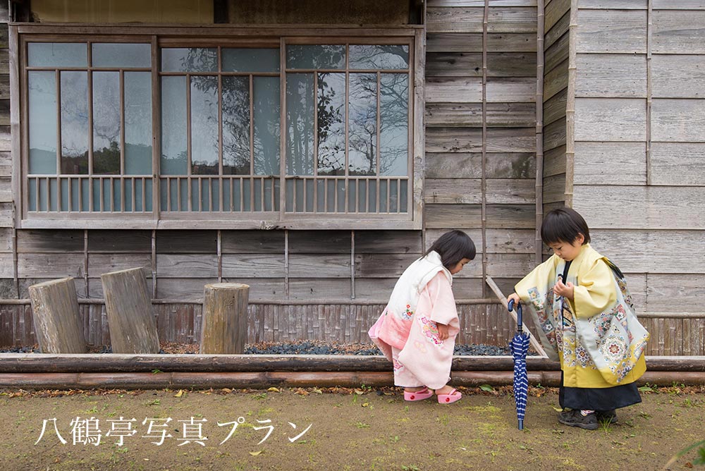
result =
[{"label": "second tall glass pane from left in the window's middle sash", "polygon": [[219,173],[217,77],[191,77],[191,173]]}]

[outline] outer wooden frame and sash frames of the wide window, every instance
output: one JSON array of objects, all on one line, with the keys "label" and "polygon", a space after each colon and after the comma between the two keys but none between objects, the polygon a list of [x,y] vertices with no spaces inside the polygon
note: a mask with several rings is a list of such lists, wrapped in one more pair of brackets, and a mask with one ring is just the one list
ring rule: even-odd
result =
[{"label": "outer wooden frame and sash frames of the wide window", "polygon": [[[424,32],[419,26],[404,26],[396,28],[381,29],[364,29],[364,28],[308,28],[308,27],[237,27],[233,28],[230,25],[220,27],[214,25],[211,27],[143,27],[143,26],[109,26],[95,27],[92,25],[30,25],[30,24],[11,24],[10,25],[10,49],[11,60],[17,64],[17,67],[11,70],[11,113],[12,120],[12,140],[13,140],[13,196],[16,201],[16,227],[17,228],[334,228],[334,229],[357,229],[357,228],[384,228],[384,229],[419,229],[422,227],[422,183],[423,183],[423,155],[424,155],[424,132],[423,132],[423,115],[424,115]],[[113,198],[112,191],[114,190],[114,181],[124,180],[126,178],[134,178],[137,181],[130,183],[130,188],[133,188],[132,195],[122,194],[122,204],[117,204],[121,211],[105,211],[100,205],[100,211],[90,210],[84,211],[51,211],[48,204],[45,204],[44,210],[37,210],[37,204],[34,205],[34,210],[30,211],[30,173],[29,173],[29,121],[28,121],[28,94],[27,94],[27,43],[30,42],[82,42],[89,43],[104,43],[104,42],[123,42],[134,43],[142,42],[151,44],[152,48],[152,169],[159,169],[159,159],[161,157],[161,72],[160,54],[161,48],[165,47],[276,47],[280,54],[280,106],[281,106],[281,121],[280,121],[280,153],[279,161],[281,164],[280,174],[276,177],[281,181],[280,191],[278,194],[278,211],[249,211],[249,212],[195,212],[189,209],[188,211],[164,211],[161,204],[160,185],[164,185],[166,176],[160,175],[155,171],[151,176],[126,176],[124,172],[124,149],[121,157],[121,173],[116,176],[97,176],[96,178],[102,181],[107,181],[105,191],[106,194]],[[288,175],[286,171],[287,155],[287,136],[286,136],[286,76],[288,73],[295,73],[286,67],[286,47],[288,45],[313,45],[313,44],[341,44],[348,47],[349,44],[406,44],[408,45],[408,131],[407,131],[407,174],[405,177],[386,177],[382,176],[379,171],[379,164],[376,176],[359,177],[348,174],[348,156],[347,150],[345,154],[345,172],[343,175],[318,176],[314,173],[313,176],[296,176]],[[31,70],[31,68],[30,68]],[[85,68],[90,74],[94,68]],[[100,69],[97,69],[100,71]],[[220,71],[220,69],[219,69]],[[345,63],[345,68],[341,73],[345,73],[346,83],[349,80],[350,69],[348,63]],[[384,72],[384,71],[383,71]],[[124,71],[121,71],[121,77]],[[315,73],[314,73],[315,75]],[[56,74],[59,77],[59,73]],[[377,81],[379,83],[380,73],[377,73]],[[220,80],[220,78],[219,78]],[[252,79],[250,79],[252,82]],[[347,87],[347,85],[346,85]],[[121,80],[121,93],[123,90],[123,81]],[[123,95],[121,95],[123,97]],[[121,98],[122,99],[122,98]],[[379,110],[379,98],[378,110]],[[90,105],[89,105],[90,106]],[[346,103],[346,106],[348,104]],[[347,116],[347,107],[346,107]],[[347,118],[346,118],[347,119]],[[379,123],[379,117],[378,123]],[[347,123],[347,121],[346,121]],[[347,126],[347,125],[346,125]],[[124,134],[124,127],[122,130]],[[61,128],[59,127],[59,133]],[[92,130],[90,130],[92,133]],[[379,154],[379,133],[376,152]],[[345,139],[348,139],[347,127]],[[123,136],[124,142],[124,136]],[[222,147],[222,140],[220,141]],[[190,149],[190,147],[189,147]],[[346,147],[347,149],[347,147]],[[90,150],[92,152],[92,148]],[[59,152],[61,153],[61,152]],[[89,158],[89,160],[91,160]],[[190,157],[189,157],[190,170]],[[59,164],[61,161],[59,160]],[[222,160],[221,160],[222,172]],[[61,169],[58,167],[57,170]],[[57,171],[59,174],[59,171]],[[60,176],[60,178],[66,176]],[[80,176],[84,178],[86,176]],[[72,178],[79,178],[73,176]],[[86,177],[88,178],[88,177]],[[209,176],[197,176],[196,178],[209,178]],[[254,182],[258,176],[247,176]],[[323,181],[323,185],[316,183],[316,180]],[[366,180],[367,179],[367,180]],[[408,189],[406,195],[400,197],[399,190],[402,181],[407,179]],[[135,203],[135,186],[143,185],[146,188],[145,181],[149,180],[152,187],[152,207],[151,211],[145,211],[145,206],[149,204],[145,202],[145,190],[142,190],[142,212],[124,211],[125,199],[129,200],[128,204],[135,208],[140,206],[140,203]],[[313,185],[307,185],[306,181],[313,181]],[[384,182],[386,180],[386,182]],[[396,186],[391,181],[396,180]],[[329,187],[329,183],[333,181],[333,187]],[[363,183],[360,183],[363,181]],[[380,183],[382,181],[382,183]],[[300,183],[302,182],[302,183]],[[372,183],[371,183],[372,182]],[[242,180],[240,181],[242,184]],[[35,183],[33,197],[38,197],[39,180]],[[54,183],[51,187],[47,178],[46,188],[51,191],[56,191],[61,194],[61,181]],[[94,183],[90,183],[93,185]],[[298,187],[296,185],[299,185]],[[78,183],[81,185],[81,183]],[[96,195],[102,194],[104,191],[103,183],[99,183],[99,190]],[[121,183],[122,185],[122,183]],[[254,185],[254,183],[252,183]],[[264,185],[264,181],[262,181]],[[293,203],[288,202],[285,197],[287,186],[290,189],[300,188],[306,191],[306,188],[314,191],[320,189],[325,191],[326,188],[338,188],[344,185],[345,204],[342,205],[342,210],[336,209],[331,212],[330,209],[325,209],[326,206],[319,206],[314,200],[311,207],[303,207],[297,210],[296,197],[293,197]],[[378,212],[360,211],[361,202],[350,201],[348,204],[348,195],[354,194],[348,189],[362,188],[359,185],[367,185],[364,188],[372,188],[371,185],[376,185],[377,198],[379,199],[380,185],[386,185],[386,212],[379,212],[380,204],[376,205]],[[71,181],[64,183],[64,198],[67,193],[75,192],[78,188]],[[92,186],[91,186],[92,188]],[[121,187],[125,188],[125,187]],[[188,183],[190,195],[191,183]],[[201,188],[201,181],[197,183],[197,187]],[[235,187],[231,187],[235,188]],[[242,187],[240,187],[242,188]],[[264,186],[262,186],[264,188]],[[271,186],[272,194],[274,194],[274,185]],[[340,188],[343,188],[340,186]],[[397,192],[397,206],[390,204],[390,194],[393,194],[394,188]],[[242,191],[242,190],[241,190]],[[290,190],[289,190],[290,191]],[[300,190],[299,190],[300,191]],[[359,190],[360,194],[362,190]],[[123,190],[122,193],[125,193]],[[83,188],[80,190],[84,194]],[[93,190],[88,192],[93,194]],[[264,194],[264,192],[262,192]],[[335,204],[338,205],[338,193],[336,192]],[[367,190],[367,199],[369,200],[369,190]],[[71,197],[71,196],[70,196]],[[75,198],[75,195],[73,195]],[[137,196],[139,197],[139,196]],[[190,196],[189,196],[190,197]],[[320,195],[319,195],[320,197]],[[306,196],[304,195],[304,204],[306,204]],[[308,197],[311,199],[311,195]],[[357,197],[355,197],[357,199]],[[59,196],[61,199],[61,196]],[[223,196],[220,196],[223,199]],[[364,199],[361,197],[361,200]],[[392,198],[393,199],[393,198]],[[405,207],[400,207],[400,201],[405,203]],[[102,200],[101,200],[102,201]],[[111,200],[112,201],[112,200]],[[71,202],[69,202],[71,205]],[[93,208],[93,202],[90,203],[90,208]],[[102,203],[101,203],[102,204]],[[190,200],[189,200],[190,204]],[[254,204],[251,202],[251,204]],[[384,204],[383,204],[384,205]],[[373,207],[372,204],[370,207]],[[221,208],[224,208],[221,206]],[[321,208],[323,209],[321,211]],[[368,208],[369,209],[369,208]],[[339,212],[336,212],[339,211]]]}]

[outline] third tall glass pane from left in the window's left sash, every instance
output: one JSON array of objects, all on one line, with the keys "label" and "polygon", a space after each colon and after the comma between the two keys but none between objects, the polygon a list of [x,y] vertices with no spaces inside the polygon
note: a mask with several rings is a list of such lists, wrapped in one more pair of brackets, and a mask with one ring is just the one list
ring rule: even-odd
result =
[{"label": "third tall glass pane from left in the window's left sash", "polygon": [[120,73],[93,73],[93,173],[120,173]]}]

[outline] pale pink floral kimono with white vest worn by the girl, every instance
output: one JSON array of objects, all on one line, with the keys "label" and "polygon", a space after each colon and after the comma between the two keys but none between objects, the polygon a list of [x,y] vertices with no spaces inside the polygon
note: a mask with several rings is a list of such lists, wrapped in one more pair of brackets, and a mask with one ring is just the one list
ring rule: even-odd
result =
[{"label": "pale pink floral kimono with white vest worn by the girl", "polygon": [[[396,386],[439,389],[448,383],[460,330],[452,283],[437,252],[417,259],[400,276],[384,312],[369,329],[369,337],[394,365]],[[448,325],[445,341],[436,322]]]}]

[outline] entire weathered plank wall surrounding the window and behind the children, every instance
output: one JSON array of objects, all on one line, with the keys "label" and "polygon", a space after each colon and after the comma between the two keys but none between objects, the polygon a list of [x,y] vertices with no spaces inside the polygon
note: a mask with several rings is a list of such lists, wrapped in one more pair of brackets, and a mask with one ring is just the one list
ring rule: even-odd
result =
[{"label": "entire weathered plank wall surrounding the window and behind the children", "polygon": [[[232,1],[214,5],[216,21],[245,18]],[[410,19],[404,5],[388,20]],[[594,245],[627,273],[639,312],[649,312],[651,354],[700,355],[705,344],[702,317],[668,316],[704,311],[704,8],[545,5],[544,205],[573,204]],[[144,267],[159,299],[200,298],[216,281],[249,284],[258,303],[250,341],[364,341],[403,269],[450,228],[467,231],[479,254],[455,280],[456,298],[491,298],[486,274],[509,293],[534,265],[535,0],[427,4],[422,231],[16,231],[7,16],[0,4],[0,299],[27,298],[27,286],[63,276],[76,278],[80,297],[102,298],[100,274]],[[0,343],[32,340],[27,309],[0,302]],[[462,305],[462,338],[505,343],[512,329],[496,309]],[[107,343],[102,306],[82,310],[89,342]],[[193,341],[199,310],[157,305],[160,338]]]}]

